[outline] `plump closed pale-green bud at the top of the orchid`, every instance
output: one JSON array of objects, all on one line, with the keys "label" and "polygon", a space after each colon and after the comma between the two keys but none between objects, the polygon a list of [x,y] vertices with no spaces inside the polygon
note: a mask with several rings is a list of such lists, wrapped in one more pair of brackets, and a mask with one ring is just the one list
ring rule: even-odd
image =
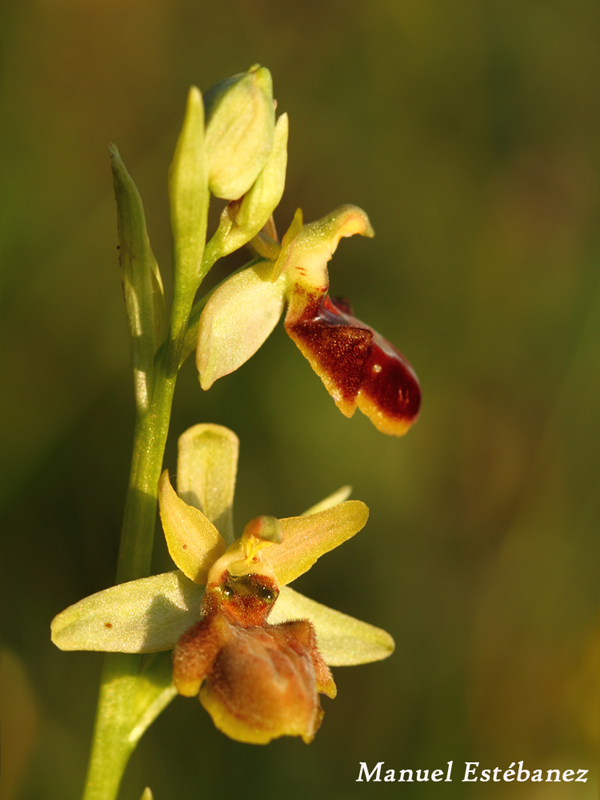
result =
[{"label": "plump closed pale-green bud at the top of the orchid", "polygon": [[271,73],[256,65],[233,75],[215,84],[204,103],[210,190],[237,200],[250,189],[273,147]]}]

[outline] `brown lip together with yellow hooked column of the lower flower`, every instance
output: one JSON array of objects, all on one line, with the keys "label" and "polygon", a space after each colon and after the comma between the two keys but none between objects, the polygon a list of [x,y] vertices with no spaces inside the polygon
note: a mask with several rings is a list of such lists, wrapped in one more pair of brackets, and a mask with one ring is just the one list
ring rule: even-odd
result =
[{"label": "brown lip together with yellow hooked column of the lower flower", "polygon": [[308,744],[321,723],[319,693],[335,697],[329,667],[308,620],[270,625],[279,582],[262,554],[283,542],[274,517],[258,517],[211,567],[203,619],[173,651],[173,683],[232,739],[267,744],[301,736]]}]

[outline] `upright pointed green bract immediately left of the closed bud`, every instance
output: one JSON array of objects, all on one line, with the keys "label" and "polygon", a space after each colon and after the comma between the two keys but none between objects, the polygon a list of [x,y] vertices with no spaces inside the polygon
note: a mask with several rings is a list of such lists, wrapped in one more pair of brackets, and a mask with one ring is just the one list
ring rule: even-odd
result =
[{"label": "upright pointed green bract immediately left of the closed bud", "polygon": [[185,119],[169,169],[169,201],[176,289],[195,293],[202,274],[208,213],[208,168],[204,146],[204,106],[192,86]]}]

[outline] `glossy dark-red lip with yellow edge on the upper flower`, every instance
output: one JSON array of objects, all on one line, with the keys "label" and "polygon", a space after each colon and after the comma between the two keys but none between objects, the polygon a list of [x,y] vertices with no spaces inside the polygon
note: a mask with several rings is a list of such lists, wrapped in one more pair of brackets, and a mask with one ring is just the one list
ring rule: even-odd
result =
[{"label": "glossy dark-red lip with yellow edge on the upper flower", "polygon": [[404,356],[349,313],[346,301],[297,290],[286,330],[348,417],[356,406],[384,433],[400,436],[421,405],[419,381]]}]

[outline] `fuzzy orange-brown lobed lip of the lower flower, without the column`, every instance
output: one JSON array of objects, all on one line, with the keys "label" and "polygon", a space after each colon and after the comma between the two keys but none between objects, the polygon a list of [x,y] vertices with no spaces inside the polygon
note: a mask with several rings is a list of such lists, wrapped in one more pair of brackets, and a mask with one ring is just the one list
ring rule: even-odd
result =
[{"label": "fuzzy orange-brown lobed lip of the lower flower, without the column", "polygon": [[267,744],[280,736],[314,738],[319,693],[335,697],[331,672],[307,620],[244,626],[226,610],[207,613],[173,652],[173,682],[194,696],[231,739]]}]

